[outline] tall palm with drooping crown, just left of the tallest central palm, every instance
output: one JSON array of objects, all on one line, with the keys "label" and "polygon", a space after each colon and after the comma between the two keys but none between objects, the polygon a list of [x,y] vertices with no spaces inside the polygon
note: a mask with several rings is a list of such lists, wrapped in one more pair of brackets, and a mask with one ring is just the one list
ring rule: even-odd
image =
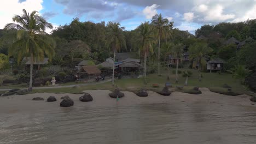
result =
[{"label": "tall palm with drooping crown, just left of the tallest central palm", "polygon": [[139,47],[144,53],[144,83],[147,83],[147,56],[153,52],[153,43],[155,43],[154,31],[150,27],[149,22],[141,23],[139,29]]}]

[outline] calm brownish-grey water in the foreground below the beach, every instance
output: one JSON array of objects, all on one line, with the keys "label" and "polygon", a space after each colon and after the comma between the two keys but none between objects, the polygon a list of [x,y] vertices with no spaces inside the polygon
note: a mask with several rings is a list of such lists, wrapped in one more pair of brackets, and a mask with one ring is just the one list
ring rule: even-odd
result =
[{"label": "calm brownish-grey water in the foreground below the beach", "polygon": [[0,143],[256,143],[253,108],[149,104],[0,113]]}]

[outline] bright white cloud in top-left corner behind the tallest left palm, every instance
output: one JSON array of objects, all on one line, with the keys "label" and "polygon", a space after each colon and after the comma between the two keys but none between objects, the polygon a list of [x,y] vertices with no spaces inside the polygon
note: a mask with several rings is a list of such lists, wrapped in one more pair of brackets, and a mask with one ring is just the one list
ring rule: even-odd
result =
[{"label": "bright white cloud in top-left corner behind the tallest left palm", "polygon": [[0,28],[4,28],[7,23],[13,22],[14,15],[21,15],[22,9],[26,9],[28,13],[33,10],[40,11],[43,9],[43,0],[27,0],[19,3],[19,0],[1,1],[0,4]]}]

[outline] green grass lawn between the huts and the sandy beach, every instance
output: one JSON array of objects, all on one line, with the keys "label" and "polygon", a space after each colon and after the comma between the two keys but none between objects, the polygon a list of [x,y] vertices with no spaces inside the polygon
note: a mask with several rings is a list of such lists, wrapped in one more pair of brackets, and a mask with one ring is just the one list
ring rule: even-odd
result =
[{"label": "green grass lawn between the huts and the sandy beach", "polygon": [[[172,71],[174,69],[171,69]],[[179,69],[179,70],[188,70],[188,69]],[[245,87],[240,85],[240,81],[232,78],[232,75],[230,74],[218,74],[218,73],[202,73],[203,78],[200,82],[197,79],[197,70],[195,69],[189,69],[190,71],[193,71],[193,75],[189,77],[188,79],[188,87],[184,87],[184,91],[181,92],[187,92],[187,90],[192,89],[193,87],[207,87],[212,89],[218,89],[219,91],[227,91],[226,88],[223,88],[224,84],[227,84],[231,87],[233,92],[236,93],[247,93]],[[142,79],[117,79],[115,80],[115,86],[118,86],[120,89],[123,90],[130,90],[134,91],[135,89],[140,88],[147,88],[147,89],[153,89],[152,84],[158,83],[160,86],[158,89],[161,89],[165,86],[166,82],[172,83],[173,87],[176,86],[183,86],[185,82],[185,77],[182,77],[182,74],[179,74],[178,83],[175,83],[175,74],[170,73],[170,80],[167,80],[167,70],[161,71],[161,76],[157,76],[157,74],[149,74],[148,80],[149,83],[147,86],[144,86]],[[69,83],[71,84],[71,83]],[[74,84],[74,83],[72,83]],[[80,82],[77,84],[81,84]],[[89,86],[81,86],[81,87],[70,87],[70,88],[54,88],[54,89],[34,89],[34,92],[48,92],[48,93],[82,93],[85,90],[95,90],[95,89],[113,89],[111,82],[101,83],[98,85],[89,85]],[[156,88],[157,89],[157,88]],[[177,91],[177,90],[174,90]],[[247,93],[248,94],[248,93]]]}]

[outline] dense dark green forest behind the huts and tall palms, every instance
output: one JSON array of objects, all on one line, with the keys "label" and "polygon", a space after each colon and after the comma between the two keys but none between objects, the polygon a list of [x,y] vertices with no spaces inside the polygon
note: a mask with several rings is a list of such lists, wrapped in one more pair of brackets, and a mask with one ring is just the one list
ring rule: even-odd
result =
[{"label": "dense dark green forest behind the huts and tall palms", "polygon": [[[155,31],[155,39],[158,40],[158,28],[153,25],[153,22],[149,23],[150,27]],[[112,24],[113,22],[106,23],[104,21],[100,23],[82,22],[76,18],[71,23],[54,29],[51,35],[56,41],[56,48],[51,64],[74,67],[83,59],[90,59],[97,64],[105,61],[108,57],[112,57],[112,47],[108,38],[109,26]],[[141,43],[139,43],[141,39],[139,31],[139,27],[132,31],[122,31],[125,43],[121,44],[119,52],[133,52],[136,53],[136,57],[143,59]],[[4,61],[4,56],[8,56],[8,49],[15,41],[16,33],[16,29],[0,29],[0,53],[4,54],[1,55],[1,61]],[[256,77],[256,43],[255,41],[250,41],[243,45],[241,49],[237,49],[234,44],[225,45],[225,41],[231,37],[239,41],[246,40],[249,37],[255,40],[256,20],[238,23],[222,22],[216,26],[204,25],[195,31],[195,35],[190,34],[188,31],[174,28],[174,22],[168,22],[163,27],[160,37],[160,62],[164,65],[168,47],[172,45],[182,44],[184,51],[189,51],[189,47],[195,47],[195,45],[207,45],[212,49],[211,52],[207,53],[207,57],[224,59],[226,61],[225,70],[235,69],[237,65],[244,65],[245,69],[253,70],[254,73],[251,73],[251,77],[247,80],[253,83],[250,80],[252,78],[255,80]],[[153,43],[153,51],[148,55],[147,65],[152,67],[148,70],[156,69],[158,44]],[[16,62],[14,61],[15,64]],[[2,69],[6,67],[8,65],[2,66]],[[255,88],[255,83],[253,85]]]}]

